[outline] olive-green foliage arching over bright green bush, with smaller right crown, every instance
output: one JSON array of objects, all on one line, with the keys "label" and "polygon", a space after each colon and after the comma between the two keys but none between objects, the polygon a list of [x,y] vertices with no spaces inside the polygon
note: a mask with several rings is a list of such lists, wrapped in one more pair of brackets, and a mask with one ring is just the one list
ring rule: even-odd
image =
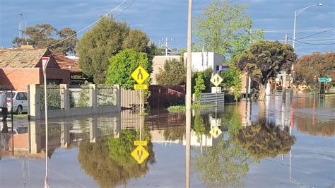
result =
[{"label": "olive-green foliage arching over bright green bush, with smaller right crown", "polygon": [[132,48],[135,52],[146,53],[151,64],[158,49],[148,42],[148,36],[141,30],[131,30],[127,23],[112,17],[102,18],[79,41],[79,65],[83,73],[93,78],[95,83],[105,83],[105,71],[110,65],[109,58],[122,49]]}]

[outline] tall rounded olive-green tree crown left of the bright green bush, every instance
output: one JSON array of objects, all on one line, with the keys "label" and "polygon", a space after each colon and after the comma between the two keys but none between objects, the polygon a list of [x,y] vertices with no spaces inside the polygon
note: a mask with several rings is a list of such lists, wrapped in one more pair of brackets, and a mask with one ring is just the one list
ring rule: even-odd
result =
[{"label": "tall rounded olive-green tree crown left of the bright green bush", "polygon": [[108,58],[122,49],[124,38],[129,33],[127,23],[113,18],[102,18],[97,25],[79,40],[77,54],[79,66],[95,83],[105,83]]}]

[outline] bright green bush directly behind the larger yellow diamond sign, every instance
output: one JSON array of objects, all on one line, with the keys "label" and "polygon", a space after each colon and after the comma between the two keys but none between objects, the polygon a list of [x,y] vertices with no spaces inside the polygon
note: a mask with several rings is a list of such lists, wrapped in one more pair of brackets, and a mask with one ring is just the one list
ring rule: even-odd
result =
[{"label": "bright green bush directly behind the larger yellow diamond sign", "polygon": [[[131,78],[131,73],[141,65],[148,74],[152,72],[151,61],[143,52],[135,52],[134,49],[124,49],[109,59],[110,66],[106,72],[108,85],[119,84],[122,88],[133,88],[136,81]],[[149,79],[148,79],[149,80]],[[149,81],[146,81],[148,83]]]}]

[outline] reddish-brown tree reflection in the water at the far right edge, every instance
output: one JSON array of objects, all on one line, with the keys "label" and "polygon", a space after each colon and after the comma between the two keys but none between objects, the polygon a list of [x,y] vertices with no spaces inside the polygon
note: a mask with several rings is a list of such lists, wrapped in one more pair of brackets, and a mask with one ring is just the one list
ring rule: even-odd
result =
[{"label": "reddish-brown tree reflection in the water at the far right edge", "polygon": [[335,134],[334,119],[327,122],[315,118],[314,124],[310,118],[302,117],[295,119],[298,131],[306,132],[310,135],[321,134],[322,136],[332,136]]}]

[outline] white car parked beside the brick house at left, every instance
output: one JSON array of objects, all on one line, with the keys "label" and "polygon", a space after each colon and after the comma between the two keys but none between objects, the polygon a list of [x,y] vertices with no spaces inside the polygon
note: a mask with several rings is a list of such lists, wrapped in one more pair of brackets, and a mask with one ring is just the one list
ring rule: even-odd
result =
[{"label": "white car parked beside the brick house at left", "polygon": [[23,91],[13,91],[6,93],[8,112],[11,112],[11,100],[13,100],[13,112],[22,114],[28,112],[28,97]]}]

